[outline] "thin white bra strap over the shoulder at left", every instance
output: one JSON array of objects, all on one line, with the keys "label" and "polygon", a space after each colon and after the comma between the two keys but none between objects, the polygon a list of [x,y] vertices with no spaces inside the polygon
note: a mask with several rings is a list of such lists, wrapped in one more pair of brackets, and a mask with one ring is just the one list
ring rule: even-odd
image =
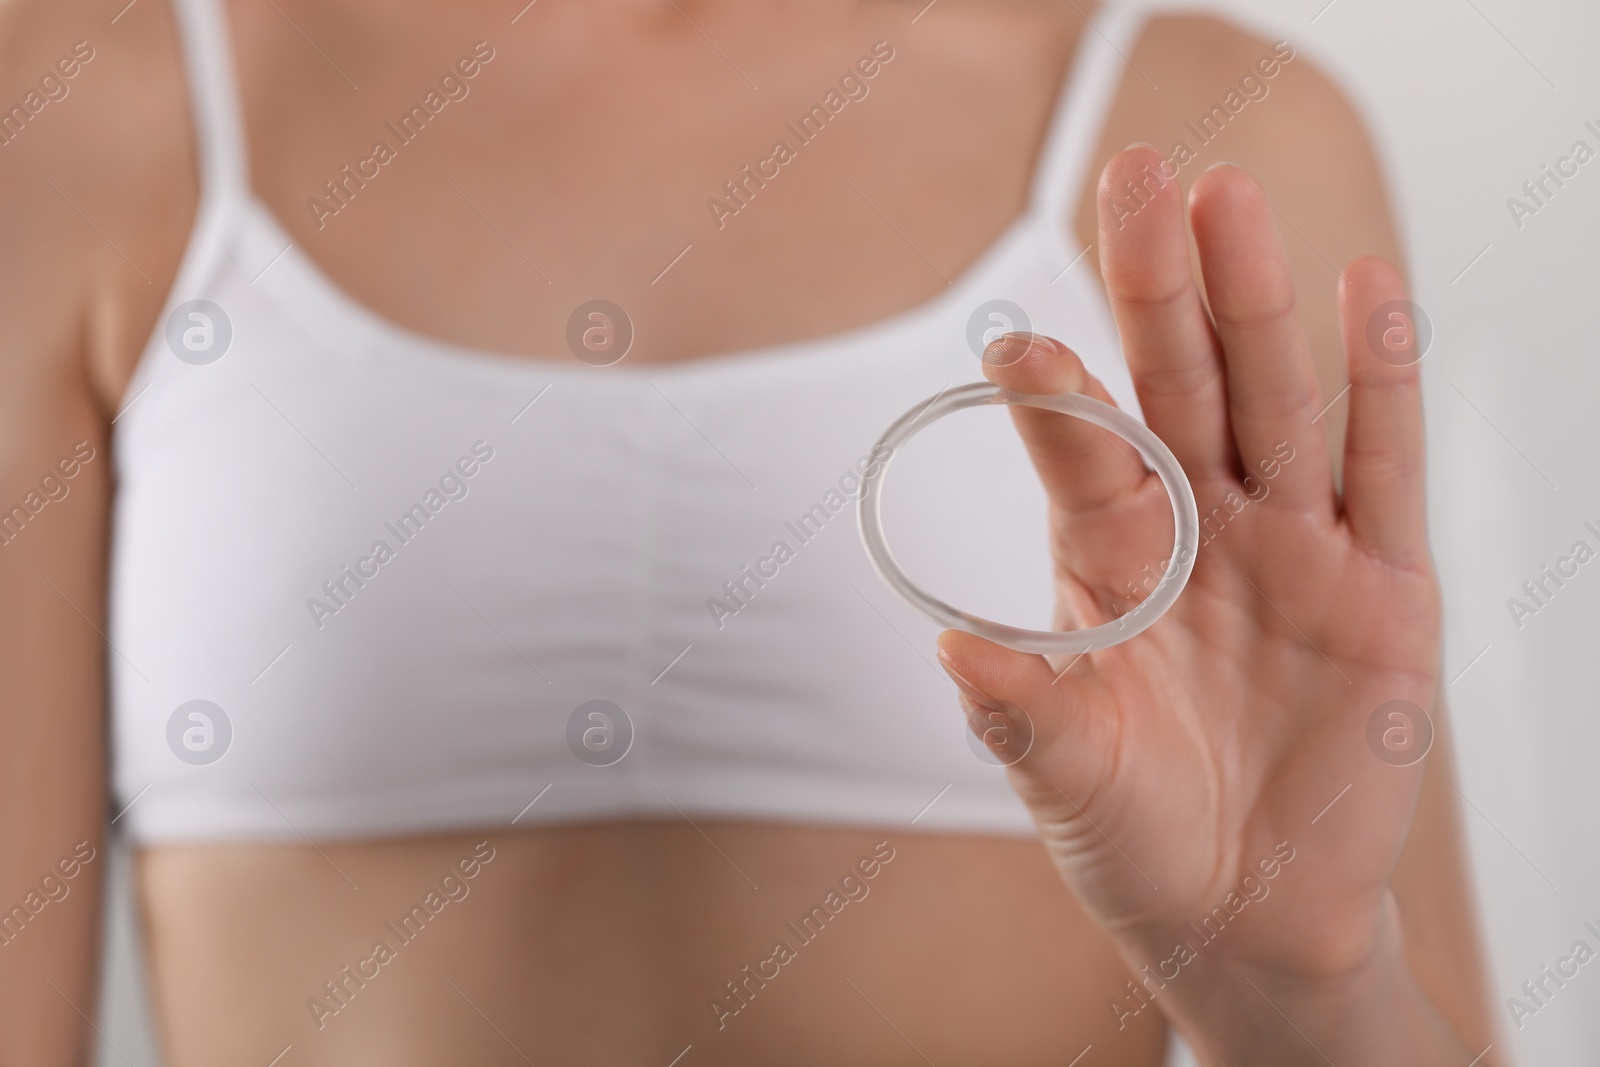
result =
[{"label": "thin white bra strap over the shoulder at left", "polygon": [[173,0],[173,11],[194,109],[202,197],[242,194],[250,165],[222,0]]}]

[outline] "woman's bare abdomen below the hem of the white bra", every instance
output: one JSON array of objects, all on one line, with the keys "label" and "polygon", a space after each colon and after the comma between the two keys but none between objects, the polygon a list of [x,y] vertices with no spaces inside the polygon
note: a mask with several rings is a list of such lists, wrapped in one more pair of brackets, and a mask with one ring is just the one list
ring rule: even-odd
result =
[{"label": "woman's bare abdomen below the hem of the white bra", "polygon": [[149,848],[139,881],[171,1067],[1162,1062],[1032,840],[598,824]]}]

